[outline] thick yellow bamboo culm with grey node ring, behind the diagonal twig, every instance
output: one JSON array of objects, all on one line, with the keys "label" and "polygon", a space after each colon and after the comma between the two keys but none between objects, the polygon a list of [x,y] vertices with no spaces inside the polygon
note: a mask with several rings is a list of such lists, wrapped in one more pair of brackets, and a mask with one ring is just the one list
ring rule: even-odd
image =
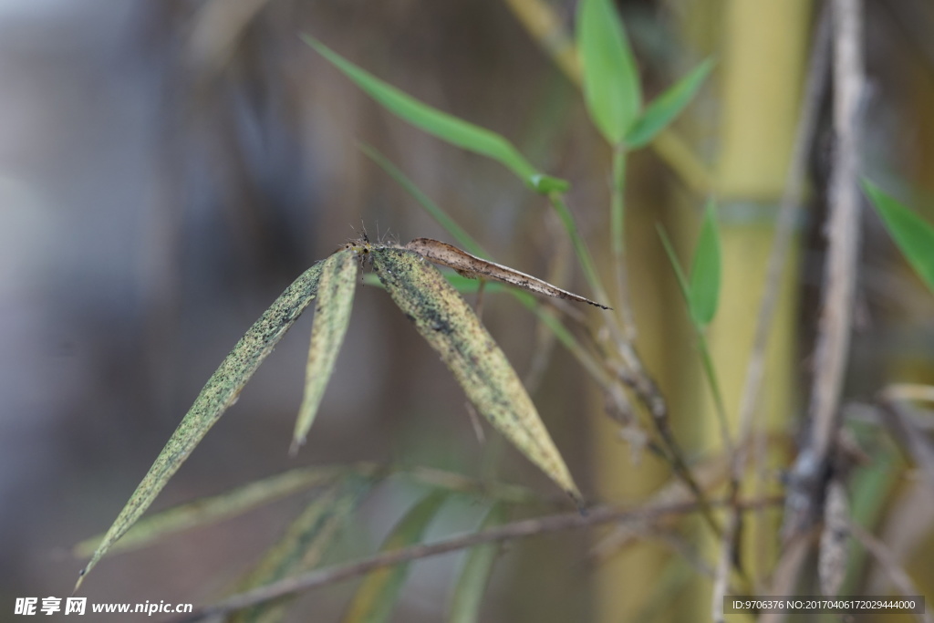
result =
[{"label": "thick yellow bamboo culm with grey node ring, behind the diagonal twig", "polygon": [[[715,144],[715,196],[720,205],[723,274],[720,305],[707,338],[730,423],[737,434],[738,409],[746,367],[756,331],[759,304],[771,253],[774,217],[797,127],[800,93],[808,52],[810,0],[727,0],[707,2],[722,7],[719,28],[719,123]],[[694,234],[696,236],[696,234]],[[682,239],[693,239],[683,234]],[[766,357],[766,379],[757,422],[781,432],[795,418],[796,282],[798,253],[793,248],[785,267],[781,295],[772,320]],[[696,449],[722,451],[713,400],[705,384],[694,404],[702,404]],[[743,494],[777,492],[769,475],[778,458],[751,453]],[[762,480],[764,479],[764,480]],[[760,586],[777,558],[776,513],[747,517],[740,555],[745,579]],[[711,539],[704,551],[711,559],[720,544]],[[735,577],[733,579],[736,579]],[[735,585],[733,585],[735,586]],[[698,582],[696,614],[710,607],[711,584]]]}]

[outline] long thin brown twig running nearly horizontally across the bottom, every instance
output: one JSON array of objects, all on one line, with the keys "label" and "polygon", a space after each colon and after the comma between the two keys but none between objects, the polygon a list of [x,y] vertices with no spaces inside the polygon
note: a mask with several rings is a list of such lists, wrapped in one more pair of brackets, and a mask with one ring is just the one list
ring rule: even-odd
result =
[{"label": "long thin brown twig running nearly horizontally across the bottom", "polygon": [[[764,500],[753,500],[741,503],[741,505],[744,509],[753,509],[762,505],[771,506],[779,503],[782,503],[782,498],[772,497]],[[725,501],[718,501],[716,504],[723,505]],[[233,595],[213,605],[200,608],[190,616],[180,619],[179,623],[191,623],[212,616],[224,615],[259,603],[279,599],[293,593],[342,582],[375,569],[438,556],[440,554],[446,554],[447,552],[473,547],[474,545],[500,543],[502,541],[522,539],[551,532],[591,528],[593,526],[600,526],[617,521],[631,521],[634,519],[644,520],[651,517],[681,515],[695,512],[699,508],[699,505],[693,502],[626,509],[601,506],[591,509],[586,515],[565,513],[548,517],[524,519],[486,531],[452,537],[444,541],[432,543],[431,545],[413,545],[403,549],[381,552],[368,559],[334,565],[332,567],[295,575],[264,587],[254,588]]]}]

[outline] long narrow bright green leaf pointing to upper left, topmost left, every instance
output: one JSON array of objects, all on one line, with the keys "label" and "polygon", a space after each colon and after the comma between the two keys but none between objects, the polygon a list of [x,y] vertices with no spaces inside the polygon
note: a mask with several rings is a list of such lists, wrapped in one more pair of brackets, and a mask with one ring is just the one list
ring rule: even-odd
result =
[{"label": "long narrow bright green leaf pointing to upper left, topmost left", "polygon": [[460,149],[473,151],[501,163],[532,190],[547,193],[567,191],[570,187],[568,182],[562,179],[539,173],[502,135],[419,102],[411,95],[350,63],[312,36],[303,34],[302,40],[340,69],[347,78],[350,78],[376,102],[386,107],[389,112],[417,128]]}]

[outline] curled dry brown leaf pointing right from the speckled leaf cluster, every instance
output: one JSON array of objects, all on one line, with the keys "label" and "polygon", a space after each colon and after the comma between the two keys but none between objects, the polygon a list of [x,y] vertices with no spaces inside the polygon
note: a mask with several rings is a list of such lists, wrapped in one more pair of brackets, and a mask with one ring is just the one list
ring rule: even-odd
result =
[{"label": "curled dry brown leaf pointing right from the speckled leaf cluster", "polygon": [[483,276],[488,279],[496,279],[497,281],[508,283],[522,290],[535,292],[536,294],[545,294],[545,296],[553,296],[557,299],[567,299],[568,301],[591,304],[601,309],[610,309],[610,307],[595,303],[590,299],[584,298],[580,294],[574,294],[568,290],[561,290],[558,286],[553,286],[538,277],[520,273],[515,268],[478,258],[467,251],[448,245],[446,242],[441,242],[440,240],[416,238],[405,245],[405,248],[410,251],[415,251],[417,254],[428,258],[434,263],[453,268],[459,275],[471,279]]}]

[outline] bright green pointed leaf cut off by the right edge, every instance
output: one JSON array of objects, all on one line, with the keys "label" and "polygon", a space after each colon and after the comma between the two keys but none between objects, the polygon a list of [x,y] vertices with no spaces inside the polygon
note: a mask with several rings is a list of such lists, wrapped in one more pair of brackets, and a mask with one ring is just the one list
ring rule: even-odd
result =
[{"label": "bright green pointed leaf cut off by the right edge", "polygon": [[912,264],[927,287],[934,290],[934,228],[870,180],[863,180],[863,189],[870,196],[885,229],[901,249],[902,255]]}]

